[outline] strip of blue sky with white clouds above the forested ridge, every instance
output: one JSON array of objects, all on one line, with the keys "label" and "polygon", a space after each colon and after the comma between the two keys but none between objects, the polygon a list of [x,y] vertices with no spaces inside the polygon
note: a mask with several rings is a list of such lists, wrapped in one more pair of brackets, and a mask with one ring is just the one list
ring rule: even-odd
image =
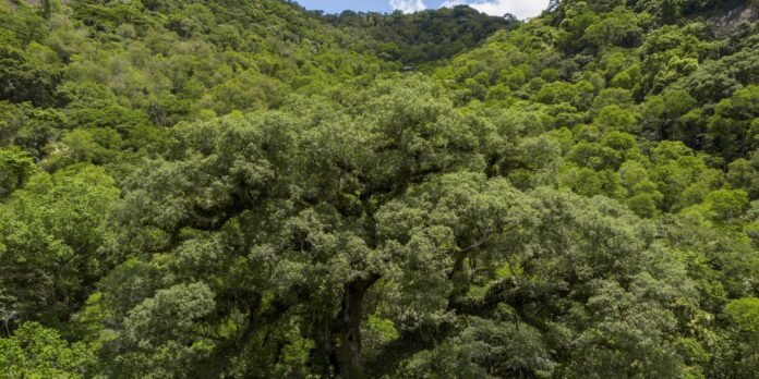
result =
[{"label": "strip of blue sky with white clouds above the forested ridge", "polygon": [[443,5],[469,4],[470,7],[493,15],[511,13],[519,19],[533,17],[547,7],[549,0],[297,0],[311,10],[339,13],[345,10],[391,12],[401,10],[413,12],[422,9],[435,9]]}]

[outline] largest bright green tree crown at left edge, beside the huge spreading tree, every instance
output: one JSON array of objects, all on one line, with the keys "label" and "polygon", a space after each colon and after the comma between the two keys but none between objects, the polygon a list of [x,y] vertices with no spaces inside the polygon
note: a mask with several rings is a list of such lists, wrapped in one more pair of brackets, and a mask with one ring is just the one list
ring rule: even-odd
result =
[{"label": "largest bright green tree crown at left edge, beside the huge spreading tree", "polygon": [[119,191],[97,167],[38,173],[0,205],[2,311],[56,325],[107,267],[103,222]]}]

